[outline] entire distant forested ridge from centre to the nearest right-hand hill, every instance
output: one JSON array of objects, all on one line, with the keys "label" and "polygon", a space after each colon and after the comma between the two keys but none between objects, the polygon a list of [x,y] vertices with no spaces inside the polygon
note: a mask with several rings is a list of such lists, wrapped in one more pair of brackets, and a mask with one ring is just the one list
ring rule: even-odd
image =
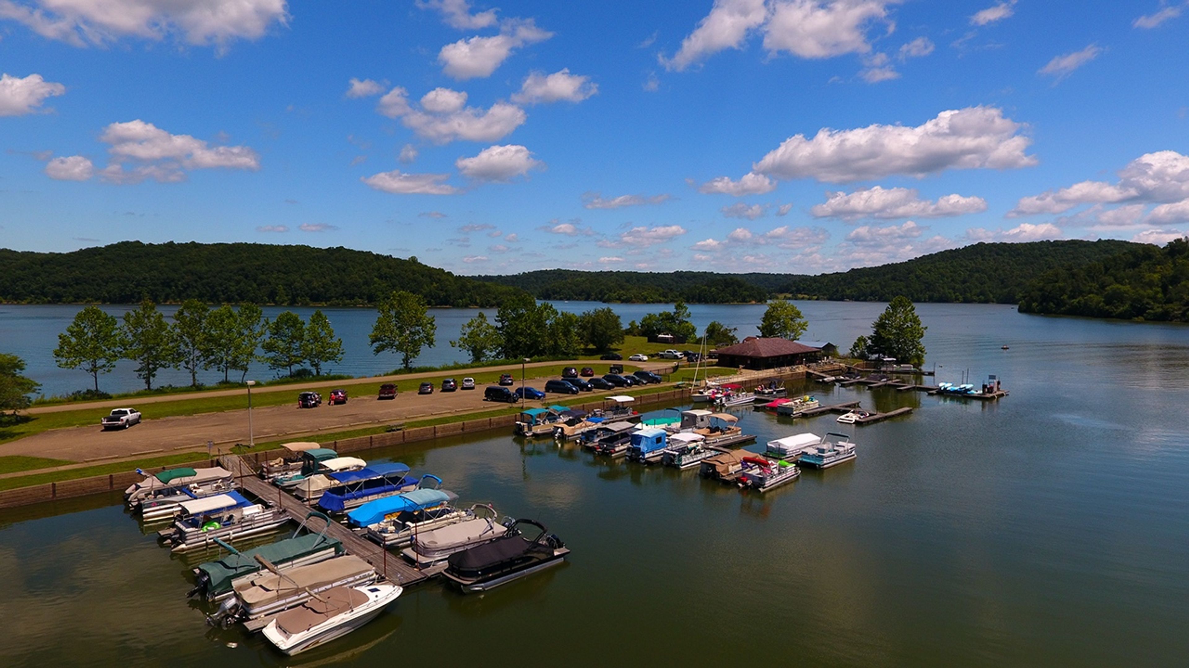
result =
[{"label": "entire distant forested ridge from centre to the nearest right-hand hill", "polygon": [[731,273],[675,271],[545,270],[515,276],[480,276],[514,285],[542,300],[597,302],[757,302],[773,294],[819,300],[1017,303],[1040,273],[1081,265],[1135,248],[1130,241],[1031,241],[975,244],[902,263],[838,273]]}]

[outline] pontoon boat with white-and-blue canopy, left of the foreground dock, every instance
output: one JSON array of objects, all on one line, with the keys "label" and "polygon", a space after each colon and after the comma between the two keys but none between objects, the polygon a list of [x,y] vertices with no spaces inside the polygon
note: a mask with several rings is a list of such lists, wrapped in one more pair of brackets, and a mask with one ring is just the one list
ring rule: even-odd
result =
[{"label": "pontoon boat with white-and-blue canopy, left of the foreground dock", "polygon": [[239,492],[183,502],[181,506],[182,515],[174,525],[157,532],[175,553],[216,547],[216,538],[231,542],[268,534],[289,522],[279,509],[252,503]]}]

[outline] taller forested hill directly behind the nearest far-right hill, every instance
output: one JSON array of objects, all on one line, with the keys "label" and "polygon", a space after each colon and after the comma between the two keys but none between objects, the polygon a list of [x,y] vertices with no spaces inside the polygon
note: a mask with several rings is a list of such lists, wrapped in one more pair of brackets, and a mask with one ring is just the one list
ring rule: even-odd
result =
[{"label": "taller forested hill directly behind the nearest far-right hill", "polygon": [[1131,241],[975,244],[907,261],[839,273],[789,277],[785,291],[822,300],[982,302],[1014,304],[1038,276],[1080,266],[1141,246]]}]

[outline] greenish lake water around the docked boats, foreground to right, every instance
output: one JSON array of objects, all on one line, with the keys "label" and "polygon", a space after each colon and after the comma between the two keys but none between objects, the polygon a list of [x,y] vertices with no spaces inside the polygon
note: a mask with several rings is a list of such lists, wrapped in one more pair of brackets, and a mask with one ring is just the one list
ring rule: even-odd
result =
[{"label": "greenish lake water around the docked boats, foreground to right", "polygon": [[[880,310],[812,305],[831,339]],[[502,434],[372,453],[543,521],[571,561],[484,595],[417,588],[295,660],[208,630],[187,562],[119,499],[0,512],[0,666],[1184,664],[1189,329],[918,309],[938,379],[999,373],[1011,396],[806,386],[917,410],[861,428],[741,414],[761,443],[839,427],[858,443],[763,497]]]}]

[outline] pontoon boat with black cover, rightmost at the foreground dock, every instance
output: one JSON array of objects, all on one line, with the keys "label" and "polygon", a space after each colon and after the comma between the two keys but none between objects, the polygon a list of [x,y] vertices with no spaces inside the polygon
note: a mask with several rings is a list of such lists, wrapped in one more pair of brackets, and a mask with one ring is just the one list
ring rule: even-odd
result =
[{"label": "pontoon boat with black cover, rightmost at the foreground dock", "polygon": [[[530,540],[522,531],[524,525],[535,527],[540,532]],[[543,524],[517,519],[503,536],[449,555],[442,575],[463,592],[485,592],[559,566],[567,554],[566,544]]]}]

